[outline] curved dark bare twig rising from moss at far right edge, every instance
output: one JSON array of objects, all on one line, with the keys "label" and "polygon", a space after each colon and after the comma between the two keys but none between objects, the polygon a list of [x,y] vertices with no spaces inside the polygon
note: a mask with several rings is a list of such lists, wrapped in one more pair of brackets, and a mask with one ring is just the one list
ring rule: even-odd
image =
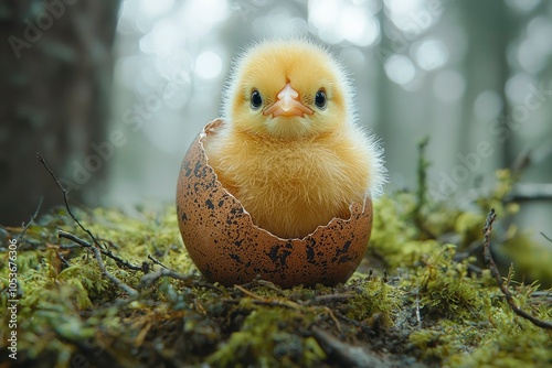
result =
[{"label": "curved dark bare twig rising from moss at far right edge", "polygon": [[541,328],[548,328],[552,329],[552,323],[539,320],[531,314],[527,313],[522,309],[520,309],[517,304],[516,301],[513,300],[513,295],[510,293],[508,290],[507,285],[505,284],[502,277],[500,275],[500,272],[498,271],[497,264],[495,263],[495,260],[492,259],[492,255],[490,252],[490,235],[492,231],[492,223],[497,218],[497,214],[495,213],[495,208],[492,208],[489,214],[487,215],[487,220],[485,223],[484,227],[484,257],[485,257],[485,263],[490,270],[490,273],[497,281],[498,286],[500,288],[500,291],[502,294],[506,296],[506,301],[512,309],[513,313],[517,315],[529,320],[533,325],[541,327]]}]

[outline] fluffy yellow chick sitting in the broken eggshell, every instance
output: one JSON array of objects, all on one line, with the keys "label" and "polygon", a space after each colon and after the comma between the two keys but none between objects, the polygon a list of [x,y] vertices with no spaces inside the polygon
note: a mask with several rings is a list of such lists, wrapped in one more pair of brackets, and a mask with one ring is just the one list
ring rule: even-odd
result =
[{"label": "fluffy yellow chick sitting in the broken eggshell", "polygon": [[347,74],[307,40],[265,41],[238,59],[209,164],[253,221],[302,238],[385,181],[382,149],[355,125]]}]

